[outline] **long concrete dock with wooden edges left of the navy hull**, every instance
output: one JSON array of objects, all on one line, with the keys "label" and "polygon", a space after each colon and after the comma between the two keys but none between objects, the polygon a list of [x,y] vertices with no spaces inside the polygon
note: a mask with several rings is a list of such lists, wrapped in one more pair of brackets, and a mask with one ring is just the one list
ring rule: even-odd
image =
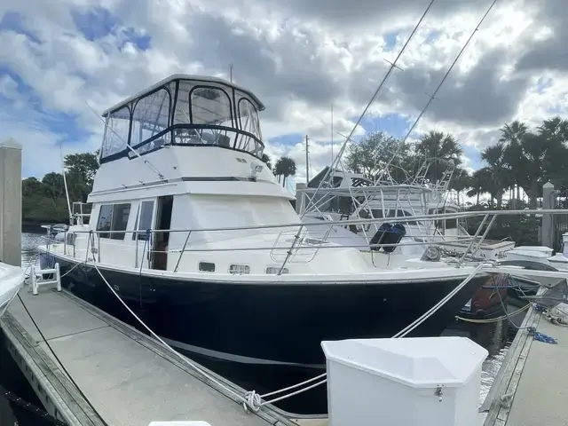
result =
[{"label": "long concrete dock with wooden edges left of the navy hull", "polygon": [[[70,425],[144,426],[172,420],[212,426],[302,424],[272,406],[247,414],[241,401],[161,343],[65,290],[42,288],[32,296],[26,286],[20,296],[86,398],[59,367],[18,299],[1,319],[8,349],[48,412]],[[203,370],[244,394],[235,384]]]}]

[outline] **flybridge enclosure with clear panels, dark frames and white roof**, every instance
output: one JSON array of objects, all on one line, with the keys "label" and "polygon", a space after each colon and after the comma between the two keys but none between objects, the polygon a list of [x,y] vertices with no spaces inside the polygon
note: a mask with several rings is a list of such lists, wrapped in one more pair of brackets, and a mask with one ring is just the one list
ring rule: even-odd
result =
[{"label": "flybridge enclosure with clear panels, dark frames and white roof", "polygon": [[100,162],[163,146],[219,146],[260,159],[263,109],[254,93],[223,79],[170,75],[105,111]]}]

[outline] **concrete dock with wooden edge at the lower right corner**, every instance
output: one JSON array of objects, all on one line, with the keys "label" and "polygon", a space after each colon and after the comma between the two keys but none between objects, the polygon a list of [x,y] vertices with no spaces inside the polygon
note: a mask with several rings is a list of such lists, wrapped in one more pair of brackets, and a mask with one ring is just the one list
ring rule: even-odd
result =
[{"label": "concrete dock with wooden edge at the lower right corner", "polygon": [[[535,327],[557,344],[534,340],[526,327]],[[531,308],[521,328],[487,396],[484,426],[565,426],[568,327],[552,324]]]}]

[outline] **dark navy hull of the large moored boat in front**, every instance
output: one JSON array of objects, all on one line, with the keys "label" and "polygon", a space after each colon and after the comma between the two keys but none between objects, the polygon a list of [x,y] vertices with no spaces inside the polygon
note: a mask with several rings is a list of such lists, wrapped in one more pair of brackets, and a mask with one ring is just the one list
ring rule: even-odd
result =
[{"label": "dark navy hull of the large moored boat in front", "polygon": [[[51,257],[51,256],[50,256]],[[61,274],[76,264],[57,258]],[[53,258],[42,256],[42,267]],[[325,372],[322,340],[390,337],[446,296],[461,279],[360,285],[227,284],[170,280],[100,268],[148,327],[186,356],[263,394]],[[487,280],[480,275],[413,336],[440,335]],[[92,267],[62,278],[76,296],[141,329]],[[327,413],[325,385],[284,399],[280,408]]]}]

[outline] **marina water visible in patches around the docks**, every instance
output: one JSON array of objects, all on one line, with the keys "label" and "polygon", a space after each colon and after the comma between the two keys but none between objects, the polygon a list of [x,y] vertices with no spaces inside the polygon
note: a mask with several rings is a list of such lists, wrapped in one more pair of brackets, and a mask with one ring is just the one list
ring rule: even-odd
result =
[{"label": "marina water visible in patches around the docks", "polygon": [[[36,247],[43,241],[44,235],[43,233],[39,233],[39,230],[29,231],[31,232],[22,233],[21,260],[22,266],[24,267],[27,267],[31,261],[35,260]],[[517,311],[517,307],[509,306],[508,311]],[[525,314],[522,312],[510,319],[518,326],[523,321],[524,315]],[[490,324],[456,322],[451,327],[446,328],[446,331],[443,333],[443,335],[469,337],[474,342],[485,347],[489,352],[489,356],[485,359],[482,367],[479,404],[483,402],[487,392],[491,389],[494,377],[497,375],[516,333],[517,327],[510,324],[508,319]],[[20,373],[20,369],[15,367],[15,362],[12,360],[10,354],[5,351],[2,341],[3,338],[4,336],[0,334],[0,385],[4,386],[7,390],[12,390],[12,392],[17,394],[20,398],[26,399],[29,403],[43,407],[36,397],[36,394],[29,386],[26,378]],[[35,426],[35,423],[25,423],[22,422],[21,419],[19,419],[18,423],[15,421],[16,419],[11,407],[7,404],[4,394],[0,393],[0,425],[12,426],[17,424],[18,426]]]}]

